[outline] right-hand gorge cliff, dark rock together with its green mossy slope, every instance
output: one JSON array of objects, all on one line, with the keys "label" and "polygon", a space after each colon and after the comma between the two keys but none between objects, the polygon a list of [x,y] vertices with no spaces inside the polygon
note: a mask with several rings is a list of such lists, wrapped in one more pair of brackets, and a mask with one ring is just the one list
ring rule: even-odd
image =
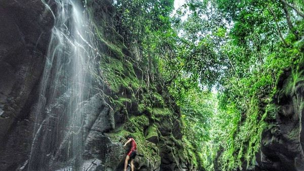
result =
[{"label": "right-hand gorge cliff, dark rock together with its green mossy slope", "polygon": [[[217,150],[214,170],[225,170],[227,165],[236,170],[304,170],[303,59],[299,56],[285,68],[273,93],[260,92],[259,101],[252,100],[232,134],[235,144]],[[227,153],[233,157],[230,162]]]}]

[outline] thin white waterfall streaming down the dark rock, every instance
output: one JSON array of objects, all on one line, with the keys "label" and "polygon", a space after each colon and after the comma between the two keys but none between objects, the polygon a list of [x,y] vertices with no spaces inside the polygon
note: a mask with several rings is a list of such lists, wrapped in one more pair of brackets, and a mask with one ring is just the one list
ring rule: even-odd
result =
[{"label": "thin white waterfall streaming down the dark rock", "polygon": [[60,162],[68,165],[68,170],[79,170],[84,146],[84,116],[80,109],[93,90],[91,75],[98,55],[92,22],[82,2],[54,2],[55,25],[39,98],[32,110],[33,142],[26,162],[30,171],[58,169]]}]

